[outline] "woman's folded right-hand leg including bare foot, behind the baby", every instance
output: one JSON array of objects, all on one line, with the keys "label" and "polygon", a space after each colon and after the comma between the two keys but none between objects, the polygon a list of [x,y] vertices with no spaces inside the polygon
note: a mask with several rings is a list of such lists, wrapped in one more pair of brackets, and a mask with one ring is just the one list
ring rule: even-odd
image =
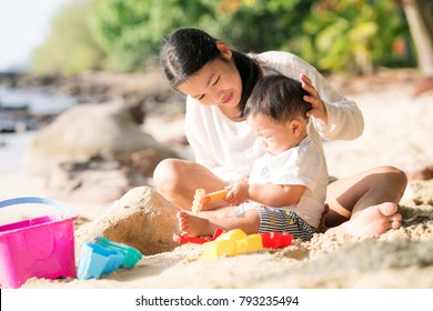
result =
[{"label": "woman's folded right-hand leg including bare foot, behind the baby", "polygon": [[338,180],[328,187],[329,233],[382,234],[401,225],[397,203],[407,179],[393,167],[380,167]]}]

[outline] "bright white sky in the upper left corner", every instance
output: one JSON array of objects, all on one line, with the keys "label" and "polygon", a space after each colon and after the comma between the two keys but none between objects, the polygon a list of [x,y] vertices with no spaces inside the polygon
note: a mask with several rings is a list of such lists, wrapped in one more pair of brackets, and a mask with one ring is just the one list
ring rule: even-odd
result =
[{"label": "bright white sky in the upper left corner", "polygon": [[56,11],[73,0],[0,0],[0,71],[29,62]]}]

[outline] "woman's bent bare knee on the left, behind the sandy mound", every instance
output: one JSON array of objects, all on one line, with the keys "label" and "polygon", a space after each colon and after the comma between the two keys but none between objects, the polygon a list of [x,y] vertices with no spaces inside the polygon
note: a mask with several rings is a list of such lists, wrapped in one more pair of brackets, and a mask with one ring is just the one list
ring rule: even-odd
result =
[{"label": "woman's bent bare knee on the left, behind the sandy mound", "polygon": [[[165,159],[153,172],[157,190],[170,202],[181,209],[191,210],[195,190],[204,189],[213,192],[224,189],[226,183],[207,168],[191,161]],[[203,205],[203,210],[226,205],[226,202],[215,202]]]}]

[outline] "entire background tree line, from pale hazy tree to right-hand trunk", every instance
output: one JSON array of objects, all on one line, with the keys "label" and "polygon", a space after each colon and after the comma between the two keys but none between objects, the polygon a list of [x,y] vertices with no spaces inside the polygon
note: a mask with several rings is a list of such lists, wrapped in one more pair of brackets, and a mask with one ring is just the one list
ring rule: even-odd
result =
[{"label": "entire background tree line, from pale hazy tree to right-hand trunk", "polygon": [[141,72],[164,37],[201,28],[245,52],[285,50],[324,72],[419,66],[433,76],[429,0],[75,0],[33,56],[39,74]]}]

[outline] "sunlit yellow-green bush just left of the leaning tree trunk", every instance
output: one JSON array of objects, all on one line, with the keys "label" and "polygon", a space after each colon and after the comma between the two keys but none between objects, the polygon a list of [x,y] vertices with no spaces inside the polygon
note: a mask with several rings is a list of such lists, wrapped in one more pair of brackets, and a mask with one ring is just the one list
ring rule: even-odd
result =
[{"label": "sunlit yellow-green bush just left of the leaning tree trunk", "polygon": [[[409,37],[409,29],[393,1],[316,2],[303,22],[301,44],[294,46],[305,60],[322,70],[367,73],[399,58],[393,46],[399,38]],[[407,62],[406,56],[400,58],[402,64]]]}]

